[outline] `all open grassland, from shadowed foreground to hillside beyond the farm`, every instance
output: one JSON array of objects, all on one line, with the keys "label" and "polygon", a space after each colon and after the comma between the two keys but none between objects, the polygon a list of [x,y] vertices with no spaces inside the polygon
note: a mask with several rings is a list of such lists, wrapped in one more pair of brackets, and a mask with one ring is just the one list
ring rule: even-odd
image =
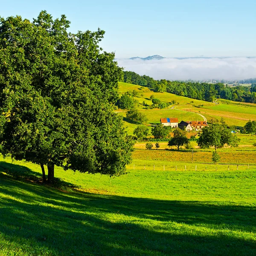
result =
[{"label": "all open grassland, from shadowed foreground to hillside beyond the farm", "polygon": [[[166,109],[139,106],[148,128],[160,117],[203,120],[198,113],[224,117],[228,125],[256,119],[252,107],[119,85],[122,93],[143,93],[140,103],[151,104],[152,94],[175,100]],[[116,111],[132,134],[137,125]],[[0,256],[256,255],[256,136],[236,136],[239,147],[218,149],[219,164],[212,164],[212,148],[195,141],[193,161],[192,150],[178,152],[167,142],[146,150],[139,141],[126,175],[55,167],[55,186],[42,183],[40,166],[0,155]]]}]

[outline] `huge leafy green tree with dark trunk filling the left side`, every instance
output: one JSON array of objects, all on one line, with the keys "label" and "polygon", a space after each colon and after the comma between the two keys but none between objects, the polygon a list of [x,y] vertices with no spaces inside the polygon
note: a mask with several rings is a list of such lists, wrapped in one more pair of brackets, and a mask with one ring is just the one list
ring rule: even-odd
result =
[{"label": "huge leafy green tree with dark trunk filling the left side", "polygon": [[62,15],[0,18],[0,142],[4,156],[121,175],[132,141],[113,112],[122,70],[99,47],[104,31],[67,32]]}]

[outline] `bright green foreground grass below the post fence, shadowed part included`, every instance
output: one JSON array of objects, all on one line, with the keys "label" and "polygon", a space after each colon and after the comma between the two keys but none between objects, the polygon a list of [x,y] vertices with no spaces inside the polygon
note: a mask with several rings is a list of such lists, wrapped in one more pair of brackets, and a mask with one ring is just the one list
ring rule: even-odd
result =
[{"label": "bright green foreground grass below the post fence, shadowed part included", "polygon": [[0,255],[256,254],[255,169],[129,170],[110,183],[57,168],[79,191],[41,185],[37,166],[9,162],[0,163]]}]

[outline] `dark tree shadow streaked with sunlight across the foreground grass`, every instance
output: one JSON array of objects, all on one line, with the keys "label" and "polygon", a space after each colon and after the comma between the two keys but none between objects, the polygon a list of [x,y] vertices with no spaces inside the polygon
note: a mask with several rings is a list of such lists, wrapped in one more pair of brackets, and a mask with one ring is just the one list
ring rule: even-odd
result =
[{"label": "dark tree shadow streaked with sunlight across the foreground grass", "polygon": [[255,207],[64,192],[23,181],[0,173],[0,236],[20,248],[29,241],[63,256],[256,255]]}]

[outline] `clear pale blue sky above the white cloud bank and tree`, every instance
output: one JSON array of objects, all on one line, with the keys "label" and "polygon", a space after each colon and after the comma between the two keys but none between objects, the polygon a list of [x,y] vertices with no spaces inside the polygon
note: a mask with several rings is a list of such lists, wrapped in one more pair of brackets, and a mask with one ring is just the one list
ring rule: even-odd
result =
[{"label": "clear pale blue sky above the white cloud bank and tree", "polygon": [[105,30],[101,46],[116,58],[256,56],[256,0],[12,0],[0,16],[41,10],[65,14],[71,32]]}]

